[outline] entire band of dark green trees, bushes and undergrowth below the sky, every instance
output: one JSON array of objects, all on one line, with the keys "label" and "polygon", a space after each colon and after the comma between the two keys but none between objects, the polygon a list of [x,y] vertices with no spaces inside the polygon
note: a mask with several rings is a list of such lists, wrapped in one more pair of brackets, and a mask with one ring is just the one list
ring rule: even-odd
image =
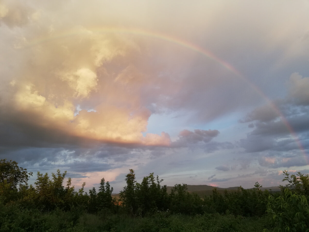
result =
[{"label": "entire band of dark green trees, bushes and undergrowth below the sky", "polygon": [[0,231],[309,231],[309,176],[284,172],[281,194],[239,187],[201,198],[176,184],[170,193],[150,173],[141,183],[125,176],[118,200],[102,178],[98,191],[78,189],[66,171],[33,175],[0,160]]}]

